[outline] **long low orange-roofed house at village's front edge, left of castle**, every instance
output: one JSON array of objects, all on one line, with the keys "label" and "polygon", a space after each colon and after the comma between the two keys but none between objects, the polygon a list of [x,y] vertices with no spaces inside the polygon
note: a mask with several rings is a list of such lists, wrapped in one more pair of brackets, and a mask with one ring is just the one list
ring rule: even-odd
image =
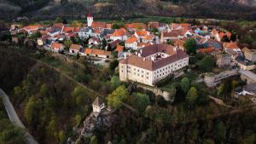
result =
[{"label": "long low orange-roofed house at village's front edge, left of castle", "polygon": [[111,55],[110,51],[105,51],[102,49],[84,49],[84,55],[88,56],[95,56],[95,57],[100,57],[100,58],[109,58]]}]

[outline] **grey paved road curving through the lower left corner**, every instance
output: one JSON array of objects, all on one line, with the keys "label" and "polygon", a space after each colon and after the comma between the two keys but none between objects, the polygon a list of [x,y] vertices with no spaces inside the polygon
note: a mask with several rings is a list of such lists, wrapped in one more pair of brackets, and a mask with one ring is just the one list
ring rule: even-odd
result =
[{"label": "grey paved road curving through the lower left corner", "polygon": [[[15,124],[15,126],[20,127],[21,129],[26,130],[26,127],[24,126],[24,124],[20,121],[20,118],[18,117],[16,111],[15,111],[15,107],[13,106],[13,104],[9,101],[9,96],[5,94],[5,92],[0,89],[0,96],[3,97],[3,104],[4,107],[6,109],[6,112],[8,113],[9,119],[10,121]],[[38,144],[38,141],[36,141],[33,136],[27,132],[25,133],[25,138],[26,138],[26,143],[27,144]]]}]

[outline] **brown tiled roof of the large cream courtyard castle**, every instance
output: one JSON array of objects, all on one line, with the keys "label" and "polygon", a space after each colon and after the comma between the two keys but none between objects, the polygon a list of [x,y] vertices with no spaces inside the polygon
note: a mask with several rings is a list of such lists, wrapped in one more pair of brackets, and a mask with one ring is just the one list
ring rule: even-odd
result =
[{"label": "brown tiled roof of the large cream courtyard castle", "polygon": [[[170,54],[171,51],[172,51],[172,54]],[[170,56],[158,61],[145,59],[145,57],[157,52],[164,52],[164,53],[167,52],[167,54],[169,54]],[[149,71],[154,71],[156,69],[159,69],[160,67],[166,66],[174,61],[181,60],[186,57],[189,57],[189,55],[187,55],[181,49],[177,49],[177,51],[175,51],[172,45],[154,44],[148,47],[144,47],[143,54],[141,54],[141,57],[137,55],[130,55],[125,60],[120,60],[120,63],[141,67]]]}]

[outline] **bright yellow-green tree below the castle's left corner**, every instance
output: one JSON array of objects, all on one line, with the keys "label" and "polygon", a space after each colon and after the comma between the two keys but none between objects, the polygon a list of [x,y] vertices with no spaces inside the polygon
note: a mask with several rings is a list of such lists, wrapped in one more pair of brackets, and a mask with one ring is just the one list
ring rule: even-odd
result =
[{"label": "bright yellow-green tree below the castle's left corner", "polygon": [[113,108],[119,108],[121,102],[125,101],[128,97],[128,91],[124,85],[119,86],[110,95],[108,95],[108,106]]}]

